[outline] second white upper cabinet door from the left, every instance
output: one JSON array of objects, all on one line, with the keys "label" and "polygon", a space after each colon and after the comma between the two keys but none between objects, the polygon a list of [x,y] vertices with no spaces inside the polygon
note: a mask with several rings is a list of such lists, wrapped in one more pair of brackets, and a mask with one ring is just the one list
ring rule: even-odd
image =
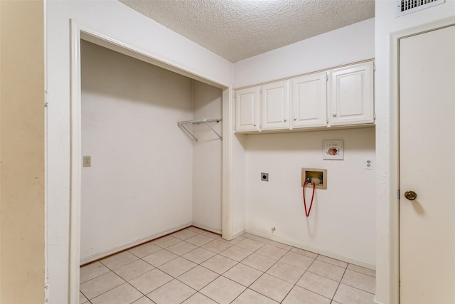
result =
[{"label": "second white upper cabinet door from the left", "polygon": [[261,130],[289,129],[289,80],[262,85]]}]

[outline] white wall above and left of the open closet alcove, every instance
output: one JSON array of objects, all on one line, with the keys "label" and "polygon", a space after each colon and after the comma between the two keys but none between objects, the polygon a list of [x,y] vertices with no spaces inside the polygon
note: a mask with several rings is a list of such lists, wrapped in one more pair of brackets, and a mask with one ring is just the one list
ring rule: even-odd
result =
[{"label": "white wall above and left of the open closet alcove", "polygon": [[[227,88],[232,83],[232,64],[118,1],[46,1],[45,18],[45,98],[48,102],[46,275],[50,303],[68,303],[70,19],[131,45],[168,65]],[[231,101],[223,100],[223,103]],[[230,120],[223,123],[232,125]],[[223,162],[224,165],[229,167],[230,162]],[[72,288],[76,287],[72,285]]]}]

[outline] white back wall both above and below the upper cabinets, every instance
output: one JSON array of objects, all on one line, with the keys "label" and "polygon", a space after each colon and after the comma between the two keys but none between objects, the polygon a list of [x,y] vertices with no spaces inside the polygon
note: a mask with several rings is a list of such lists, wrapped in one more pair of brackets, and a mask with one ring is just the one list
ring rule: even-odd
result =
[{"label": "white back wall both above and below the upper cabinets", "polygon": [[[374,43],[374,19],[355,23],[235,63],[234,87],[255,85],[375,58]],[[359,148],[356,143],[350,145],[352,141],[355,142],[353,134],[361,138],[368,135],[366,136],[369,139],[368,144],[362,148]],[[271,227],[277,227],[279,224],[282,228],[277,227],[274,235],[281,238],[280,241],[374,268],[375,209],[372,201],[375,196],[375,180],[374,178],[363,179],[361,186],[358,187],[363,189],[361,194],[355,195],[355,199],[349,201],[347,198],[352,197],[352,189],[346,184],[346,178],[341,177],[342,172],[369,174],[370,177],[373,175],[374,170],[366,173],[362,164],[365,157],[375,156],[374,135],[374,128],[277,135],[236,135],[241,139],[240,145],[238,145],[239,150],[245,149],[246,153],[245,209],[247,214],[245,220],[247,231],[271,237]],[[350,159],[335,162],[332,164],[333,168],[325,168],[330,169],[329,184],[333,177],[336,177],[336,182],[329,186],[331,187],[329,190],[321,192],[317,197],[320,203],[324,204],[335,197],[345,196],[346,201],[343,199],[343,204],[346,208],[341,211],[341,214],[346,212],[346,216],[338,217],[336,213],[333,213],[333,211],[338,211],[337,208],[341,204],[335,205],[335,209],[328,205],[321,205],[321,208],[327,206],[327,209],[316,213],[321,218],[317,219],[315,226],[311,226],[310,233],[304,229],[305,227],[301,227],[306,219],[304,219],[305,216],[302,218],[303,209],[299,209],[303,204],[300,195],[301,187],[299,187],[300,169],[301,167],[327,167],[330,162],[323,162],[321,159],[322,140],[336,139],[336,137],[348,141],[346,148],[349,151]],[[311,159],[311,162],[308,163],[305,159]],[[357,168],[358,171],[354,168]],[[267,169],[277,173],[269,172],[272,174],[271,181],[261,183],[259,174],[264,170],[267,172]],[[272,182],[273,180],[274,182]],[[277,182],[278,184],[274,184]],[[370,204],[365,201],[370,201]],[[279,207],[282,204],[284,204],[283,209]],[[343,222],[343,219],[349,219],[352,214],[358,216],[357,223],[348,221],[347,225],[346,223],[340,225],[336,229],[340,235],[338,238],[330,234],[330,231],[333,231],[333,221]],[[358,224],[362,224],[362,233],[358,233]],[[346,243],[339,242],[340,240]]]}]

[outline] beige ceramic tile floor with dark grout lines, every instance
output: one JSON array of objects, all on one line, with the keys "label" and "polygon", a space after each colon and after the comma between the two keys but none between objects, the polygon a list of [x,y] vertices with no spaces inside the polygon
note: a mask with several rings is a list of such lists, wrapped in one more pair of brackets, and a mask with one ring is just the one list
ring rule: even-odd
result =
[{"label": "beige ceramic tile floor with dark grout lines", "polygon": [[80,303],[370,304],[375,271],[189,227],[80,268]]}]

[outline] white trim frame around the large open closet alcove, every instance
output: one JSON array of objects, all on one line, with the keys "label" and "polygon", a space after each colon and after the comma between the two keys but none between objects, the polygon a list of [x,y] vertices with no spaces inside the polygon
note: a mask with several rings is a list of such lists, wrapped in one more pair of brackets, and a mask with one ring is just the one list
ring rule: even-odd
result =
[{"label": "white trim frame around the large open closet alcove", "polygon": [[80,206],[82,191],[82,121],[80,40],[90,41],[124,55],[166,68],[188,78],[208,83],[223,90],[222,97],[222,221],[223,239],[232,239],[232,142],[234,138],[233,90],[207,78],[169,65],[164,58],[157,58],[135,46],[129,45],[107,33],[97,31],[82,23],[70,20],[70,252],[69,252],[69,303],[79,303],[80,284]]}]

